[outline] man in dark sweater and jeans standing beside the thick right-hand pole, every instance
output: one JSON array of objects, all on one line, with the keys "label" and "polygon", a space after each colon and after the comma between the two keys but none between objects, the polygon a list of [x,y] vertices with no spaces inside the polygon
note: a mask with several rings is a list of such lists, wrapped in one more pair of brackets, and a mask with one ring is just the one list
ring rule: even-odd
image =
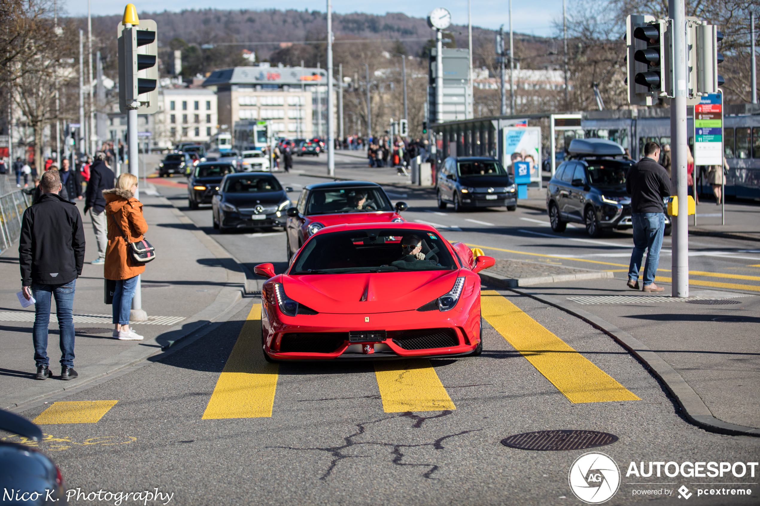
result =
[{"label": "man in dark sweater and jeans standing beside the thick right-hand pole", "polygon": [[670,196],[670,178],[660,159],[657,143],[644,145],[644,158],[633,165],[625,181],[625,188],[631,194],[631,222],[633,223],[633,252],[628,271],[628,286],[638,290],[638,273],[641,258],[648,250],[644,266],[644,291],[663,291],[654,284],[657,265],[660,263],[660,248],[663,245],[665,215],[663,198]]}]

